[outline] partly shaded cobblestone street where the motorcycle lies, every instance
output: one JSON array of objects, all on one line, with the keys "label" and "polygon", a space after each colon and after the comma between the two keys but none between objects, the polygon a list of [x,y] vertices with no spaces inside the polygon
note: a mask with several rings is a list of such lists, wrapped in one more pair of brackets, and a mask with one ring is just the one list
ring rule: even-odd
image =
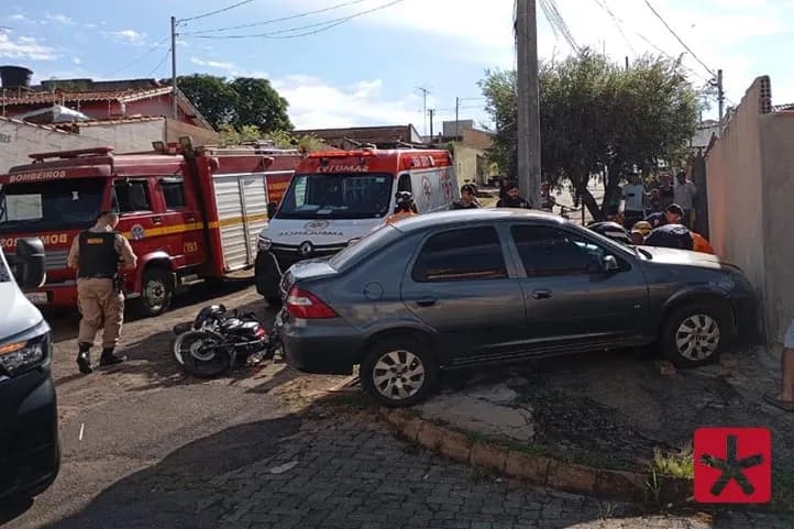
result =
[{"label": "partly shaded cobblestone street where the motorcycle lies", "polygon": [[[263,316],[253,288],[217,301]],[[173,324],[211,293],[130,321],[130,361],[77,375],[74,318],[54,319],[62,472],[9,529],[67,528],[791,528],[765,515],[641,515],[632,506],[532,488],[395,439],[344,377],[272,365],[213,381],[170,359]]]}]

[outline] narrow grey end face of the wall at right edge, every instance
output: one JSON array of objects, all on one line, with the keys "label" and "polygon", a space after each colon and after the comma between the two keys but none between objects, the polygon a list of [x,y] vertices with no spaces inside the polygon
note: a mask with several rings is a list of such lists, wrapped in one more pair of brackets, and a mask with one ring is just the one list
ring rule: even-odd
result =
[{"label": "narrow grey end face of the wall at right edge", "polygon": [[759,117],[763,174],[764,306],[770,340],[794,318],[794,112]]}]

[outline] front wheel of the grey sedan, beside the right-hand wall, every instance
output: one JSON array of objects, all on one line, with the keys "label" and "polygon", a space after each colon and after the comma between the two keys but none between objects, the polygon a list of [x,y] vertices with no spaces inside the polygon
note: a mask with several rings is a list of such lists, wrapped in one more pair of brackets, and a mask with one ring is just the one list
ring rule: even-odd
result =
[{"label": "front wheel of the grey sedan, beside the right-hand wall", "polygon": [[714,362],[730,340],[730,309],[716,302],[673,310],[662,330],[662,353],[677,367]]}]

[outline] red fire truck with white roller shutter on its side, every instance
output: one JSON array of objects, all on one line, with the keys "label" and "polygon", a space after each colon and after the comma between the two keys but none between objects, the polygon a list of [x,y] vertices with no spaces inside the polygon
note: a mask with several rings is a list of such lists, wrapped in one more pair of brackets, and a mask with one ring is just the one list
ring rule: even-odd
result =
[{"label": "red fire truck with white roller shutter on its side", "polygon": [[0,175],[0,245],[42,239],[47,280],[27,293],[37,305],[74,307],[71,241],[102,210],[119,212],[118,230],[139,257],[125,273],[128,298],[144,315],[168,308],[180,287],[251,268],[256,238],[280,202],[301,154],[254,147],[194,148],[155,142],[155,151],[112,147],[32,154]]}]

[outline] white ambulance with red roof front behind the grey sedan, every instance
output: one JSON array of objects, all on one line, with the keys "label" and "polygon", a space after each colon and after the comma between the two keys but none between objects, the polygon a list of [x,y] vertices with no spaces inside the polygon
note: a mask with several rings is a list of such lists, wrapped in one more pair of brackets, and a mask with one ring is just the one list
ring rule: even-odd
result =
[{"label": "white ambulance with red roof front behind the grey sedan", "polygon": [[450,209],[460,198],[450,152],[365,148],[309,154],[260,233],[257,291],[278,305],[278,284],[287,268],[332,255],[385,223],[395,210],[397,191],[413,195],[419,214]]}]

